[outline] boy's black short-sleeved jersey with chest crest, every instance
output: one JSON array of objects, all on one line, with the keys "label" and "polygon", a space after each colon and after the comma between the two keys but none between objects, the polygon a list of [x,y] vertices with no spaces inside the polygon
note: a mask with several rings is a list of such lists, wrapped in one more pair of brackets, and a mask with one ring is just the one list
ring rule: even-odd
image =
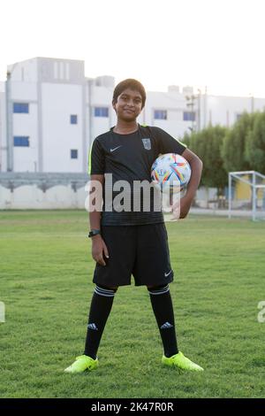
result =
[{"label": "boy's black short-sleeved jersey with chest crest", "polygon": [[[148,212],[143,210],[141,203],[140,210],[135,210],[133,201],[135,202],[142,195],[136,195],[135,190],[133,192],[133,183],[135,181],[151,182],[151,166],[160,154],[181,155],[185,149],[186,146],[183,143],[178,142],[159,127],[139,126],[136,132],[129,135],[117,134],[112,127],[107,133],[96,137],[89,157],[88,173],[105,174],[105,178],[110,178],[110,175],[106,173],[112,174],[111,182],[105,181],[103,189],[102,225],[121,226],[163,222],[163,212],[154,209],[152,200]],[[117,181],[126,181],[131,186],[130,191],[126,190],[132,196],[130,210],[116,211],[113,205],[110,209],[110,204],[107,203],[106,195],[107,191],[110,191],[110,186],[112,186],[112,201],[120,192],[117,189],[113,190],[115,184],[121,183]],[[127,188],[122,189],[125,191]],[[154,196],[151,191],[152,198]]]}]

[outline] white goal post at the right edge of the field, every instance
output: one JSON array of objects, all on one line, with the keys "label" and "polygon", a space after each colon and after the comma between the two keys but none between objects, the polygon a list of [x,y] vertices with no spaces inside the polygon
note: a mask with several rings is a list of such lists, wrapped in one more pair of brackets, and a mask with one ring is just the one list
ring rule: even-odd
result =
[{"label": "white goal post at the right edge of the field", "polygon": [[230,172],[228,210],[232,215],[246,215],[265,220],[265,175],[256,171]]}]

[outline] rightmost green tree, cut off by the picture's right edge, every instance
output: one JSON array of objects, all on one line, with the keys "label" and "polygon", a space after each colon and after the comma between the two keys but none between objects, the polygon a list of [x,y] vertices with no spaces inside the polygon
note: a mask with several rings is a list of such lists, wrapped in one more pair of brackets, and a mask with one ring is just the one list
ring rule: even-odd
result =
[{"label": "rightmost green tree, cut off by the picture's right edge", "polygon": [[246,136],[245,155],[252,170],[265,173],[265,112],[256,114],[253,129]]}]

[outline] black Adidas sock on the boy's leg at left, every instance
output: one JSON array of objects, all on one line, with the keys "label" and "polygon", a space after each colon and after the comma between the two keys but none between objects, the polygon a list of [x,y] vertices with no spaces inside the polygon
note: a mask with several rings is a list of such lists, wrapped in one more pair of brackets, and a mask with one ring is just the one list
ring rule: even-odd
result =
[{"label": "black Adidas sock on the boy's leg at left", "polygon": [[96,353],[101,342],[104,327],[110,315],[116,291],[117,289],[107,289],[98,285],[95,287],[90,306],[84,351],[84,354],[91,358],[96,358]]}]

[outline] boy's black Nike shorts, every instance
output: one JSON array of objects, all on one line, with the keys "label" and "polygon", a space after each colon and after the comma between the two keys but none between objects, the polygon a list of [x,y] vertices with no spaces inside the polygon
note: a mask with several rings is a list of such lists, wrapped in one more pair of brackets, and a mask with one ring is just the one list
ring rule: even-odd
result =
[{"label": "boy's black Nike shorts", "polygon": [[158,286],[173,281],[168,235],[164,223],[141,226],[102,226],[109,250],[106,266],[96,264],[94,283],[107,287],[131,284]]}]

